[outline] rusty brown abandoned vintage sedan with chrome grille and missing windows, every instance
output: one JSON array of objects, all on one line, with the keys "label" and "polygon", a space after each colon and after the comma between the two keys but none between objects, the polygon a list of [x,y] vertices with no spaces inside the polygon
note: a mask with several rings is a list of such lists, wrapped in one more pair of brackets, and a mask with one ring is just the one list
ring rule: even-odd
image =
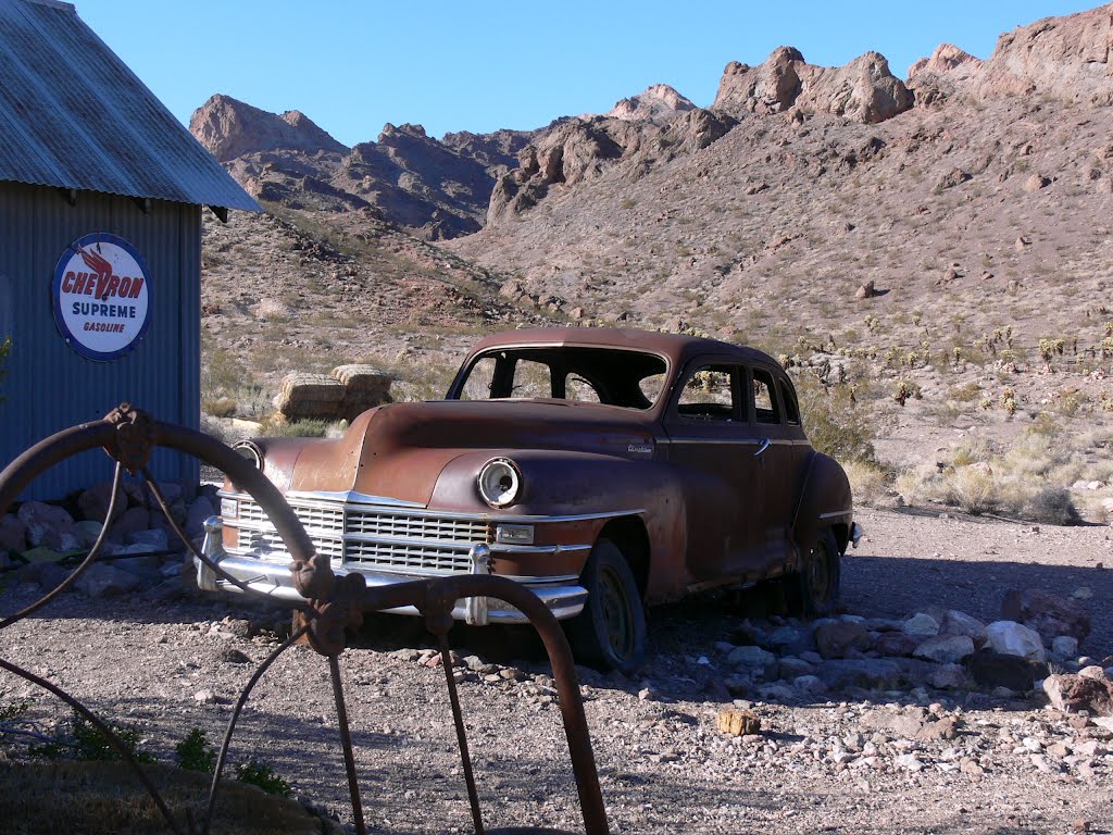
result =
[{"label": "rusty brown abandoned vintage sedan with chrome grille and missing windows", "polygon": [[[781,578],[797,611],[830,611],[859,536],[846,474],[809,444],[780,365],[709,338],[498,334],[443,401],[372,409],[338,440],[237,449],[337,574],[512,578],[565,621],[578,658],[626,672],[644,657],[647,605]],[[253,589],[298,600],[252,498],[226,482],[220,512],[205,552]],[[205,566],[198,583],[237,590]],[[459,600],[453,617],[523,620],[484,598]]]}]

